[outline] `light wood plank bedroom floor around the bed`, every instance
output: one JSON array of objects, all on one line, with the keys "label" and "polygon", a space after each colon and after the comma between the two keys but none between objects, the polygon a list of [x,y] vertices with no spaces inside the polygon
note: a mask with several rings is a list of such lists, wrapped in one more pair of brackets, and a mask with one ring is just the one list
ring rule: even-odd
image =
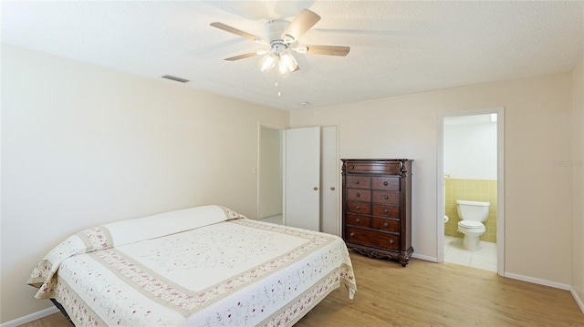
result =
[{"label": "light wood plank bedroom floor around the bed", "polygon": [[[357,294],[332,291],[297,327],[584,326],[569,291],[498,277],[453,263],[395,261],[351,252]],[[55,313],[26,327],[70,326]]]}]

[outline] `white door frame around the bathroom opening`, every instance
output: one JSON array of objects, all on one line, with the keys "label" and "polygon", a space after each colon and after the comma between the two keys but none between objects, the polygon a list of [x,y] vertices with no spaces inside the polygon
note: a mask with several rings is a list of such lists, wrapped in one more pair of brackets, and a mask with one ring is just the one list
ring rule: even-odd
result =
[{"label": "white door frame around the bathroom opening", "polygon": [[490,107],[438,114],[438,145],[436,148],[436,249],[438,262],[444,261],[444,118],[497,114],[496,120],[496,267],[499,276],[505,276],[505,107]]}]

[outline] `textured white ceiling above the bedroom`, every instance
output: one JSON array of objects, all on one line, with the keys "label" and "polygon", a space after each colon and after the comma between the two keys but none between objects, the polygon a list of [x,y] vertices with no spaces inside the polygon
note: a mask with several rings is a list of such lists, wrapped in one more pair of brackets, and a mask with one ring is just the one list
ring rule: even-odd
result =
[{"label": "textured white ceiling above the bedroom", "polygon": [[[300,43],[348,56],[295,54],[301,69],[276,77],[260,56],[224,61],[264,46],[209,26],[264,36],[267,20],[303,8],[322,19]],[[3,1],[2,42],[294,110],[568,72],[584,54],[583,17],[582,1]]]}]

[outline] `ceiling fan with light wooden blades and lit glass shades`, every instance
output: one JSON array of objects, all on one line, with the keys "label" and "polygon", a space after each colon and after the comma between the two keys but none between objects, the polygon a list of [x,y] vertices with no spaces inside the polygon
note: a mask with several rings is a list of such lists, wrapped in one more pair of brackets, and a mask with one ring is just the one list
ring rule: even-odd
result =
[{"label": "ceiling fan with light wooden blades and lit glass shades", "polygon": [[211,26],[222,29],[225,32],[233,33],[237,36],[243,36],[256,43],[269,46],[265,50],[250,52],[244,55],[232,56],[225,58],[227,61],[235,61],[250,56],[264,56],[259,61],[259,67],[262,71],[269,71],[274,66],[278,66],[281,74],[287,74],[297,71],[300,67],[297,64],[290,50],[300,54],[309,55],[326,55],[326,56],[347,56],[349,46],[318,46],[318,45],[299,45],[297,40],[304,35],[308,29],[318,23],[320,16],[314,12],[303,9],[292,20],[270,20],[264,25],[266,38],[254,36],[232,26],[223,23],[211,23]]}]

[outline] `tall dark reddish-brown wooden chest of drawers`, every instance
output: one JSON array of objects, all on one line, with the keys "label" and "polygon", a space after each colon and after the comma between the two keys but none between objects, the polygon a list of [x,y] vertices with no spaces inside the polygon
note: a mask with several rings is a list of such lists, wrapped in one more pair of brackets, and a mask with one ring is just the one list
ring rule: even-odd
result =
[{"label": "tall dark reddish-brown wooden chest of drawers", "polygon": [[349,249],[390,258],[412,256],[412,160],[341,159],[342,237]]}]

